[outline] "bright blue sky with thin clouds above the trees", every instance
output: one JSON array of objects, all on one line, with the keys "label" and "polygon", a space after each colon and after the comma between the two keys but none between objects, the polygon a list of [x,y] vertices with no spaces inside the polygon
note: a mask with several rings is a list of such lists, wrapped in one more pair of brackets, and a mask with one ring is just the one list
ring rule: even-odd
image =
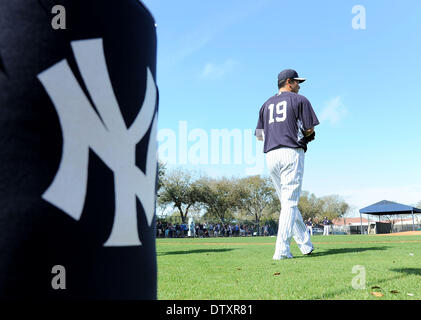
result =
[{"label": "bright blue sky with thin clouds above the trees", "polygon": [[[321,122],[303,190],[342,196],[351,215],[380,200],[421,201],[421,1],[143,2],[157,23],[160,157],[177,153],[169,168],[250,174],[247,132],[276,93],[277,74],[293,68],[308,79],[300,94]],[[353,28],[356,5],[365,8],[365,29]],[[212,130],[222,129],[235,130],[242,148],[233,138],[230,162],[212,163]],[[187,155],[199,140],[205,164]],[[252,143],[263,159],[262,144]]]}]

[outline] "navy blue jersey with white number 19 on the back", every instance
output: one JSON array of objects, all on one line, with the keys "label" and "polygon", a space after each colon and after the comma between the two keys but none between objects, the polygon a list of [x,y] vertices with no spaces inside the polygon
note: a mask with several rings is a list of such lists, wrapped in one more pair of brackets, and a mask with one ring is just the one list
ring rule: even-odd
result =
[{"label": "navy blue jersey with white number 19 on the back", "polygon": [[310,101],[300,94],[282,92],[269,98],[260,108],[256,136],[264,132],[264,152],[279,147],[303,148],[304,130],[319,124]]}]

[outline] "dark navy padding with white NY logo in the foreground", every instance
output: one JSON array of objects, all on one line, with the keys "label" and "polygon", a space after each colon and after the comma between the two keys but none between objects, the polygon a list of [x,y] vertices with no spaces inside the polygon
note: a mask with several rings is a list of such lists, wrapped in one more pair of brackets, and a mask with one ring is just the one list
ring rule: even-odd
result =
[{"label": "dark navy padding with white NY logo in the foreground", "polygon": [[155,79],[140,1],[0,1],[0,298],[156,299]]}]

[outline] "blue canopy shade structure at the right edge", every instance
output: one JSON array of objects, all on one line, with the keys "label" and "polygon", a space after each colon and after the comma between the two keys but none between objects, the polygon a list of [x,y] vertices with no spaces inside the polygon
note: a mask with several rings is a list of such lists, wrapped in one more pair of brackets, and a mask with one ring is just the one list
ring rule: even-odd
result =
[{"label": "blue canopy shade structure at the right edge", "polygon": [[361,219],[361,234],[363,233],[362,214],[370,214],[375,216],[382,215],[398,215],[398,214],[412,214],[412,230],[415,230],[414,213],[421,213],[421,209],[407,206],[404,204],[383,200],[372,204],[371,206],[360,209]]}]

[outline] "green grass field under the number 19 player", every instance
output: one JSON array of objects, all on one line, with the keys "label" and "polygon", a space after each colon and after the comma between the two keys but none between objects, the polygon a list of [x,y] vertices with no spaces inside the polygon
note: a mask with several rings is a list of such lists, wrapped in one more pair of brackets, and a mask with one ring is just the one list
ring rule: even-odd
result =
[{"label": "green grass field under the number 19 player", "polygon": [[157,239],[158,299],[421,299],[421,236],[313,236],[311,256],[292,241],[280,261],[275,240]]}]

